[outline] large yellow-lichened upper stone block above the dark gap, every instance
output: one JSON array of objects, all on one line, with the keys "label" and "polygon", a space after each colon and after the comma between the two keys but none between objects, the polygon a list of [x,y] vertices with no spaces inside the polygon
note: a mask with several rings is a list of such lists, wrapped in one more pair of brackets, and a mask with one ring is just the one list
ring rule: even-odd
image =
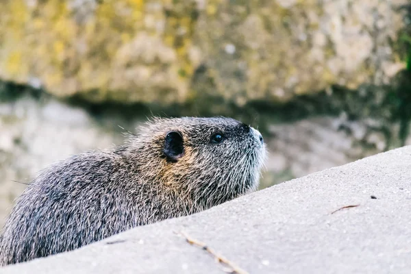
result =
[{"label": "large yellow-lichened upper stone block above the dark gap", "polygon": [[93,101],[286,101],[403,67],[377,1],[3,0],[0,78]]}]

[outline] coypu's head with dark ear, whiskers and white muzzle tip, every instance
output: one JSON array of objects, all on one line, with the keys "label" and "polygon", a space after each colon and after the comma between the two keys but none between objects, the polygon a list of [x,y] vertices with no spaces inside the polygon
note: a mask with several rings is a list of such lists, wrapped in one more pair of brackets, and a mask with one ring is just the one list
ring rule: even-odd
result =
[{"label": "coypu's head with dark ear, whiskers and white muzzle tip", "polygon": [[144,179],[203,208],[256,190],[265,156],[258,130],[223,117],[155,118],[129,145]]}]

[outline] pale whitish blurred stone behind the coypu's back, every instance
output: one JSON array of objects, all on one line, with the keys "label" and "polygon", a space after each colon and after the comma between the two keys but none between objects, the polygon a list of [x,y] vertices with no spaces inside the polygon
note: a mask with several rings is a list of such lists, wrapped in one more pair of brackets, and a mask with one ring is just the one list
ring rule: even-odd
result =
[{"label": "pale whitish blurred stone behind the coypu's back", "polygon": [[32,97],[0,102],[0,132],[0,227],[14,198],[38,171],[80,151],[109,147],[121,137],[80,108]]}]

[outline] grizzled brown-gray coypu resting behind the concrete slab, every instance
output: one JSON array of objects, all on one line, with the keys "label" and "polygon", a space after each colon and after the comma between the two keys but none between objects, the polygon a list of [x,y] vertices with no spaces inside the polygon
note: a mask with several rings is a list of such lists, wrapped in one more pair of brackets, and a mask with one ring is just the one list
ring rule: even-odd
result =
[{"label": "grizzled brown-gray coypu resting behind the concrete slab", "polygon": [[42,171],[5,224],[0,265],[244,195],[258,187],[264,155],[260,132],[234,119],[155,118],[121,147],[74,155]]}]

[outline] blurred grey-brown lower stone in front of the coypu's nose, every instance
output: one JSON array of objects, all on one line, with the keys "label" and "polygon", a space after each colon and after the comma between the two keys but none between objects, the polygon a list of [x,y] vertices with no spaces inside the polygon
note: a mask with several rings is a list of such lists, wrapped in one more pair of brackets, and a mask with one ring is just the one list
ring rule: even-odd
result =
[{"label": "blurred grey-brown lower stone in front of the coypu's nose", "polygon": [[[389,140],[381,128],[376,129],[375,124],[372,119],[347,121],[341,115],[269,125],[269,138],[266,138],[270,148],[269,172],[264,174],[262,186],[386,151],[393,140]],[[391,125],[391,132],[398,132],[398,127],[398,124]]]}]

